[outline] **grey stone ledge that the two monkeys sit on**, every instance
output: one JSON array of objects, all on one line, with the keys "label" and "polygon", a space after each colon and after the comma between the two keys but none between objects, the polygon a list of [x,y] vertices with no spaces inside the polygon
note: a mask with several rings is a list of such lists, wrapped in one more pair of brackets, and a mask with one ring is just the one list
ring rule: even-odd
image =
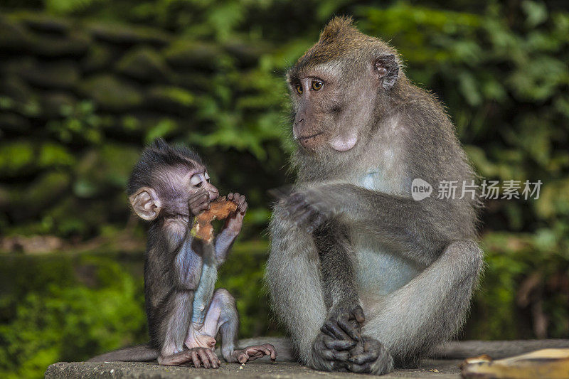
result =
[{"label": "grey stone ledge that the two monkeys sit on", "polygon": [[[194,368],[191,365],[165,367],[156,362],[60,362],[50,365],[46,379],[51,378],[124,378],[124,379],[175,379],[175,378],[349,378],[351,373],[325,373],[311,370],[292,359],[289,344],[285,338],[260,338],[277,346],[279,360],[271,363],[268,358],[246,365],[222,363],[218,370]],[[246,346],[253,340],[242,340]],[[259,339],[255,339],[259,342]],[[539,348],[568,348],[569,340],[528,341],[459,341],[450,342],[437,349],[437,359],[421,361],[419,368],[395,370],[381,378],[459,378],[458,364],[467,356],[487,353],[494,358],[526,353]],[[369,375],[359,376],[370,378]]]}]

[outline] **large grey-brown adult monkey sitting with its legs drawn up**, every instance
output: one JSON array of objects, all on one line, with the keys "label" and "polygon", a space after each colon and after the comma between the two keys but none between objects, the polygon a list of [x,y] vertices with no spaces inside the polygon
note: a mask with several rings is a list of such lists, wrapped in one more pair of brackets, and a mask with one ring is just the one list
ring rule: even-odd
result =
[{"label": "large grey-brown adult monkey sitting with its legs drawn up", "polygon": [[473,183],[440,102],[395,49],[334,18],[289,70],[295,192],[275,206],[266,280],[302,363],[388,373],[462,326],[483,265]]}]

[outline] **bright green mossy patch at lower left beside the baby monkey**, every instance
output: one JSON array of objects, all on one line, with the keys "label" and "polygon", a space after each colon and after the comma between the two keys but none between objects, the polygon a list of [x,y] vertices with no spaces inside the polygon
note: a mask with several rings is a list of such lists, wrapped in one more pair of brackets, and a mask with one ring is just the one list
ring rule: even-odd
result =
[{"label": "bright green mossy patch at lower left beside the baby monkey", "polygon": [[115,259],[3,257],[1,277],[11,289],[0,294],[2,378],[38,378],[55,361],[147,341],[142,278]]}]

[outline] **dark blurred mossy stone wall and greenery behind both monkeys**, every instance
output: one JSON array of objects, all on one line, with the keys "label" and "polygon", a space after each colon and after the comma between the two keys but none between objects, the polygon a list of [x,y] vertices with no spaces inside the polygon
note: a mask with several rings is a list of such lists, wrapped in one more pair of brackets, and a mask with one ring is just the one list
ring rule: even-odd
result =
[{"label": "dark blurred mossy stone wall and greenery behind both monkeys", "polygon": [[155,137],[248,196],[220,286],[242,337],[279,335],[262,288],[267,189],[290,183],[283,75],[334,14],[397,47],[484,178],[486,274],[459,338],[569,337],[565,1],[2,0],[0,376],[146,341],[144,225],[124,185]]}]

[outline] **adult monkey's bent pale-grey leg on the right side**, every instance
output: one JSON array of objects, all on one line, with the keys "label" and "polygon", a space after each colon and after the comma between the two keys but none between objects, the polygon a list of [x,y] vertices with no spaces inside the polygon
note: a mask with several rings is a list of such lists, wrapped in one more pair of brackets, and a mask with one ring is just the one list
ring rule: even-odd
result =
[{"label": "adult monkey's bent pale-grey leg on the right side", "polygon": [[[365,309],[363,338],[371,336],[381,341],[395,365],[413,363],[462,326],[482,266],[483,253],[475,242],[453,242],[408,284]],[[350,368],[369,372],[373,364]]]}]

